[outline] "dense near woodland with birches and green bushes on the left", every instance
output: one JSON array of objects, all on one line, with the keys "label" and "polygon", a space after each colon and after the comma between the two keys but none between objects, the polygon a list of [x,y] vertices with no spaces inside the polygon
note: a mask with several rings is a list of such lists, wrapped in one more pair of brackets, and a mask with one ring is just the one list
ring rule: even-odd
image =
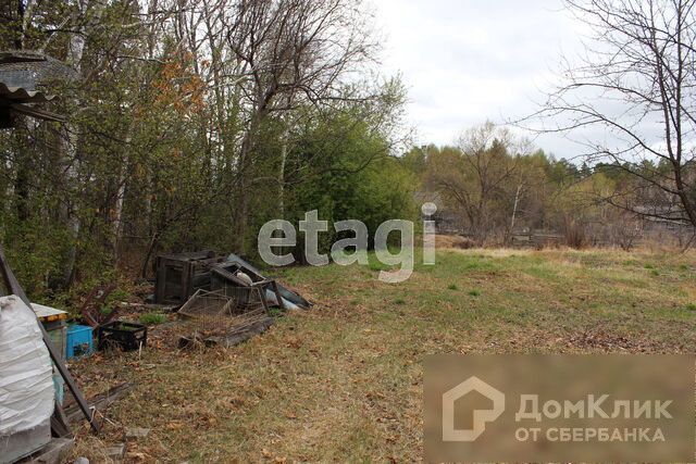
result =
[{"label": "dense near woodland with birches and green bushes on the left", "polygon": [[[250,258],[270,218],[369,225],[410,208],[405,90],[355,0],[20,0],[0,50],[33,50],[65,124],[0,133],[0,237],[35,293],[154,254]],[[108,278],[108,277],[107,277]]]}]

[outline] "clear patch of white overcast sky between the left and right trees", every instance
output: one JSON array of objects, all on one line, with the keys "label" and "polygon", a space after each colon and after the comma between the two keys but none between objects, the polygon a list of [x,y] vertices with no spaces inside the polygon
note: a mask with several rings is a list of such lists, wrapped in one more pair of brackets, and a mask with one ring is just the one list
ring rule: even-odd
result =
[{"label": "clear patch of white overcast sky between the left and right trees", "polygon": [[[400,72],[419,145],[452,143],[462,129],[533,112],[563,54],[581,50],[582,25],[560,0],[373,0],[386,38],[385,71]],[[536,146],[580,153],[561,136]]]}]

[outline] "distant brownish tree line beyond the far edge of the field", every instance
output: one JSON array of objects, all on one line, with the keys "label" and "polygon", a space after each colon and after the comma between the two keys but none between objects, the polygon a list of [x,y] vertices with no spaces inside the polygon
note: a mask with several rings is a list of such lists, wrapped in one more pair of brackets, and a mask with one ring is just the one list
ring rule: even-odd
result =
[{"label": "distant brownish tree line beyond the far edge of the field", "polygon": [[[440,218],[453,221],[450,230],[477,246],[513,244],[515,234],[534,230],[576,248],[693,240],[680,198],[655,185],[670,173],[664,160],[577,165],[488,122],[465,130],[455,146],[414,148],[403,162],[420,173],[423,191],[442,199]],[[696,170],[684,174],[694,178]]]}]

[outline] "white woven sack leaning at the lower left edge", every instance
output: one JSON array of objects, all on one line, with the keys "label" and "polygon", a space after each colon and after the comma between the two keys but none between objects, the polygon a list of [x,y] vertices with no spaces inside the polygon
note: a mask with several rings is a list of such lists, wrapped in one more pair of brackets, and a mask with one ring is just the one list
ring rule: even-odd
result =
[{"label": "white woven sack leaning at the lower left edge", "polygon": [[53,414],[52,365],[34,311],[0,298],[0,436],[29,430]]}]

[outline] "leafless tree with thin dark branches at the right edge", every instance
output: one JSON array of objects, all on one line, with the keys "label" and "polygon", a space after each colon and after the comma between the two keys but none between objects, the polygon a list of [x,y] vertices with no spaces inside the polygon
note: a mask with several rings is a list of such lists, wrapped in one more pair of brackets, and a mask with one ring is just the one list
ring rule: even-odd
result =
[{"label": "leafless tree with thin dark branches at the right edge", "polygon": [[593,33],[581,64],[566,66],[567,81],[534,115],[540,130],[568,134],[589,160],[609,161],[667,199],[626,204],[610,196],[612,204],[696,226],[696,2],[566,3]]}]

